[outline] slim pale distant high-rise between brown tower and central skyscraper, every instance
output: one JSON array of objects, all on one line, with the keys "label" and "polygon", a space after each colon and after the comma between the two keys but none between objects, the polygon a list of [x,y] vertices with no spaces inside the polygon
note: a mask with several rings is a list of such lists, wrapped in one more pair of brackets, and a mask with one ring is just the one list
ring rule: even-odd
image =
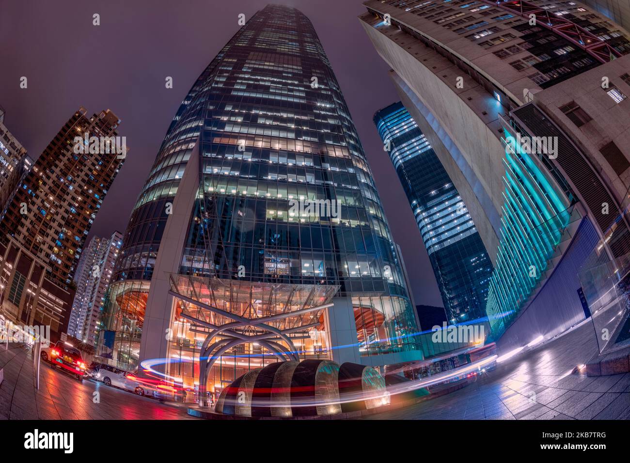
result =
[{"label": "slim pale distant high-rise between brown tower and central skyscraper", "polygon": [[77,265],[74,277],[76,295],[72,303],[68,334],[91,345],[96,345],[101,331],[105,295],[121,240],[122,234],[118,231],[109,238],[92,237]]}]

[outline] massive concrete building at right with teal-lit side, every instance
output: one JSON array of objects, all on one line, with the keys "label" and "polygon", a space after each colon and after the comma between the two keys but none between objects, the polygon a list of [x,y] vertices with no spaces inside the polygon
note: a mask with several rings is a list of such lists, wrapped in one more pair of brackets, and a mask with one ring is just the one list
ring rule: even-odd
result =
[{"label": "massive concrete building at right with teal-lit side", "polygon": [[[579,323],[583,303],[608,300],[597,282],[628,266],[627,32],[574,2],[364,4],[360,23],[492,260],[500,347]],[[595,282],[578,275],[605,262]],[[611,312],[596,322],[617,333],[627,309]]]}]

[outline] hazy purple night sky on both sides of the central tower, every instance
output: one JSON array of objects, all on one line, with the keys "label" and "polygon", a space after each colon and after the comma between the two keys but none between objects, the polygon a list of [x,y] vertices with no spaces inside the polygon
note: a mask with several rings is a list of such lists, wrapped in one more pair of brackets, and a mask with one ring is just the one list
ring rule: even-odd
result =
[{"label": "hazy purple night sky on both sides of the central tower", "polygon": [[[171,118],[227,40],[265,0],[3,0],[0,106],[4,124],[37,159],[79,106],[110,108],[122,120],[129,155],[90,236],[123,232]],[[277,2],[280,3],[280,2]],[[372,122],[398,101],[357,16],[360,0],[284,0],[315,26],[350,107],[394,239],[403,249],[416,304],[442,306],[420,232]],[[92,25],[100,14],[101,25]],[[20,89],[26,76],[28,88]],[[164,88],[166,76],[173,89]]]}]

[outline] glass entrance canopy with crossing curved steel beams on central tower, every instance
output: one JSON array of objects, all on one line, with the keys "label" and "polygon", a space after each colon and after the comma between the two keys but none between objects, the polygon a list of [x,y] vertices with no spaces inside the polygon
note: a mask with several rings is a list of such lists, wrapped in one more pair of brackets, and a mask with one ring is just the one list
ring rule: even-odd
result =
[{"label": "glass entrance canopy with crossing curved steel beams on central tower", "polygon": [[[176,299],[175,319],[203,334],[199,385],[205,389],[214,362],[239,345],[258,345],[281,361],[301,360],[304,345],[317,333],[323,311],[333,306],[338,286],[293,285],[169,275]],[[202,394],[203,397],[203,394]]]}]

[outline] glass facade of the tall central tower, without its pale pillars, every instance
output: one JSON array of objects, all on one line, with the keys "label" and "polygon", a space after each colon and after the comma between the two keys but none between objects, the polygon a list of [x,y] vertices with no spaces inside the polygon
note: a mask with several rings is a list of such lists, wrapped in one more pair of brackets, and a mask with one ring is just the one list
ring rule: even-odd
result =
[{"label": "glass facade of the tall central tower, without its pale pillars", "polygon": [[[166,209],[197,140],[198,193],[173,291],[190,286],[181,283],[186,276],[201,278],[195,299],[244,314],[291,307],[291,290],[273,304],[262,300],[277,285],[325,285],[352,300],[362,355],[415,350],[408,336],[415,314],[394,243],[328,58],[304,14],[266,6],[198,77],[168,129],[123,238],[101,353],[113,353],[122,367],[137,364]],[[226,298],[243,301],[243,311]],[[193,363],[184,377],[190,382],[203,338],[178,313],[173,307],[172,326],[186,348],[173,341],[169,358]],[[302,357],[319,350],[319,358],[331,358],[321,311],[319,320],[300,343],[309,346]],[[260,346],[236,346],[210,380],[221,384],[260,367],[260,353]]]}]

